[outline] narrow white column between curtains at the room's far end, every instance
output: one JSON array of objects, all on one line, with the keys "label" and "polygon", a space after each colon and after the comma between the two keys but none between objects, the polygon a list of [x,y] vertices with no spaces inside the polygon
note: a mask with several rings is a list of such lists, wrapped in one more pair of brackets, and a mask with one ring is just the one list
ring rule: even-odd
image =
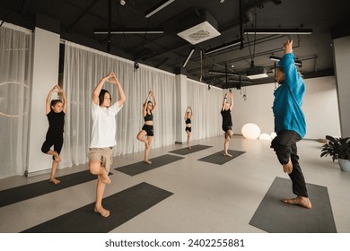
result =
[{"label": "narrow white column between curtains at the room's far end", "polygon": [[186,143],[185,121],[183,120],[185,110],[188,107],[188,85],[187,76],[178,74],[175,76],[176,82],[176,143]]}]

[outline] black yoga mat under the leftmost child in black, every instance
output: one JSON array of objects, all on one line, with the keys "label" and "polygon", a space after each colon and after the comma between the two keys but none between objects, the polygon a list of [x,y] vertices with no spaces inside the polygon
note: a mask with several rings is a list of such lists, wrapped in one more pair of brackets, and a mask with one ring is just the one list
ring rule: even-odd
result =
[{"label": "black yoga mat under the leftmost child in black", "polygon": [[[109,173],[111,175],[111,173]],[[92,175],[89,170],[57,177],[61,182],[57,185],[46,180],[31,183],[23,186],[16,186],[6,190],[0,191],[0,207],[12,203],[18,203],[24,200],[31,199],[39,195],[46,195],[64,189],[69,186],[76,186],[87,181],[96,179],[96,176]]]}]

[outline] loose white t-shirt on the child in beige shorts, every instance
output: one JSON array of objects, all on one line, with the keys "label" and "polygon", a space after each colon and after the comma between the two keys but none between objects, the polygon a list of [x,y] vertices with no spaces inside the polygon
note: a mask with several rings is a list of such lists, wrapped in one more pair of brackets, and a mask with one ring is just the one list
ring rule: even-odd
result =
[{"label": "loose white t-shirt on the child in beige shorts", "polygon": [[116,141],[116,115],[123,106],[118,102],[109,108],[101,108],[92,102],[92,142],[90,148],[114,146]]}]

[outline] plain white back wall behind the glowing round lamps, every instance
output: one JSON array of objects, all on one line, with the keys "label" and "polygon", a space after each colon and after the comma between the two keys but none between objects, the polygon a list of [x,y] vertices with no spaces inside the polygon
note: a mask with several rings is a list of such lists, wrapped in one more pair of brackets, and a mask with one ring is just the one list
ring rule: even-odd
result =
[{"label": "plain white back wall behind the glowing round lamps", "polygon": [[[325,138],[325,135],[340,135],[337,107],[337,89],[334,76],[305,80],[305,96],[302,110],[306,119],[305,139]],[[246,87],[247,100],[244,101],[240,90],[234,93],[232,112],[234,134],[241,134],[241,127],[254,123],[262,134],[274,132],[275,83]]]}]

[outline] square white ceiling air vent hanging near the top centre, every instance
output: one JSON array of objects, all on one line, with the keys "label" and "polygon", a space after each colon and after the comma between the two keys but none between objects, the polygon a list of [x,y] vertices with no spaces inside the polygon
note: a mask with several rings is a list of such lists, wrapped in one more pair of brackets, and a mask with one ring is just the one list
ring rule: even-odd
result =
[{"label": "square white ceiling air vent hanging near the top centre", "polygon": [[199,15],[191,16],[182,23],[185,23],[185,25],[181,25],[182,29],[178,36],[192,45],[220,35],[220,32],[216,30],[216,20],[205,10],[202,10]]}]

